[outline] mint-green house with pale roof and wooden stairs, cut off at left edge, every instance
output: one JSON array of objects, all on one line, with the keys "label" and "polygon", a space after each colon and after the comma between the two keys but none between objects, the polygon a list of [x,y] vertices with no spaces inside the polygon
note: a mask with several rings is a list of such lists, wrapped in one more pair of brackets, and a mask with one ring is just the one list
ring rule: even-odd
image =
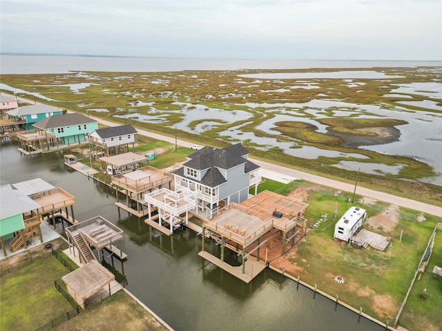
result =
[{"label": "mint-green house with pale roof and wooden stairs, cut off at left edge", "polygon": [[28,239],[39,236],[43,243],[38,215],[39,203],[28,197],[20,190],[14,190],[10,185],[0,186],[0,242],[3,257],[6,257],[5,241],[10,240],[12,252],[21,246],[27,248]]}]

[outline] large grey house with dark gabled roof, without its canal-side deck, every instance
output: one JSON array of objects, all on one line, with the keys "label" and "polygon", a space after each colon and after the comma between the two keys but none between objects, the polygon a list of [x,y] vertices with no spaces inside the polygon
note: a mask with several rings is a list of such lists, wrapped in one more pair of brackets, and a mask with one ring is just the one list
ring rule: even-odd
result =
[{"label": "large grey house with dark gabled roof, without its canal-side deck", "polygon": [[210,214],[232,202],[249,198],[249,188],[258,188],[259,166],[249,161],[249,152],[241,143],[227,148],[206,146],[189,155],[182,168],[173,172],[175,190],[196,194],[196,207]]}]

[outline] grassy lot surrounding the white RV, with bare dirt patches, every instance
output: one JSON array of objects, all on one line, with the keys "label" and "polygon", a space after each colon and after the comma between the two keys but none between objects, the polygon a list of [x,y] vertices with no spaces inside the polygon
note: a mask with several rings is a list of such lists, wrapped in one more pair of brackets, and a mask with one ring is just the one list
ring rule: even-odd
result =
[{"label": "grassy lot surrounding the white RV, with bare dirt patches", "polygon": [[[359,200],[360,197],[356,197],[355,201]],[[310,226],[323,218],[324,214],[327,214],[327,221],[321,222],[305,242],[287,255],[289,265],[285,262],[285,272],[294,277],[299,275],[302,281],[310,285],[317,283],[318,289],[333,297],[339,294],[339,299],[343,302],[356,309],[362,307],[363,312],[379,321],[390,321],[392,325],[434,224],[441,219],[431,215],[425,215],[426,220],[421,223],[398,219],[392,230],[374,229],[365,223],[363,226],[367,230],[392,238],[391,253],[390,248],[381,252],[374,248],[353,248],[346,242],[334,240],[336,222],[333,218],[336,206],[338,218],[351,205],[366,208],[368,217],[374,217],[378,212],[358,203],[349,204],[345,201],[345,196],[328,197],[316,192],[309,192],[307,203],[309,207],[305,217]],[[434,277],[430,273],[436,261],[442,261],[442,241],[439,240],[438,245],[435,245],[433,252],[433,264],[430,263],[427,267],[421,281],[415,283],[411,294],[413,299],[407,304],[410,308],[403,312],[399,321],[405,327],[410,325],[410,330],[440,330],[431,327],[442,325],[439,309],[442,306],[442,282],[441,279],[436,279],[442,277]],[[436,252],[438,247],[439,254]],[[282,268],[282,261],[274,266]],[[345,283],[336,283],[334,277],[343,277]],[[427,288],[432,294],[425,302],[419,299],[423,288]],[[422,313],[424,310],[425,314]],[[427,327],[423,328],[422,325]]]}]

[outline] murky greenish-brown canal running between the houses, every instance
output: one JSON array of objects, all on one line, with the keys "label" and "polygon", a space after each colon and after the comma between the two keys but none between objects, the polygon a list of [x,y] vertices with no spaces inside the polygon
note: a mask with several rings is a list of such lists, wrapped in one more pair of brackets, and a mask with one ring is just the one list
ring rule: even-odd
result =
[{"label": "murky greenish-brown canal running between the houses", "polygon": [[[272,270],[249,284],[198,257],[201,238],[190,230],[167,237],[137,217],[118,212],[106,186],[68,170],[60,153],[23,157],[1,143],[0,183],[41,178],[73,194],[75,218],[97,214],[124,230],[122,263],[106,256],[119,281],[175,330],[384,330]],[[206,241],[213,252],[217,245]],[[236,254],[229,254],[233,263]],[[341,298],[345,300],[345,298]]]}]

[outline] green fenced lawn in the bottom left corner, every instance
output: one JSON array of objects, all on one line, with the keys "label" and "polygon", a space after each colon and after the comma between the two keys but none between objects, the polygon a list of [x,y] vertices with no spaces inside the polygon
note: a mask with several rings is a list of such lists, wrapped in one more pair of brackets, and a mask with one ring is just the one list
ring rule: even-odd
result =
[{"label": "green fenced lawn in the bottom left corner", "polygon": [[72,306],[54,281],[68,274],[52,254],[1,277],[0,330],[36,330]]}]

